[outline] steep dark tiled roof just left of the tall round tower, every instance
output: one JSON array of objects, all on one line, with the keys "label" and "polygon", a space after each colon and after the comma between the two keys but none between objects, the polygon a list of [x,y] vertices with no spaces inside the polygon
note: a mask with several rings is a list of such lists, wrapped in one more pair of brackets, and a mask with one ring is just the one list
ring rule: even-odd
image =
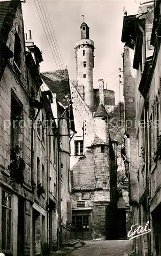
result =
[{"label": "steep dark tiled roof just left of the tall round tower", "polygon": [[58,100],[63,105],[68,105],[68,99],[65,98],[65,96],[70,93],[68,71],[65,69],[42,72],[41,78],[47,84],[52,93],[57,94]]}]

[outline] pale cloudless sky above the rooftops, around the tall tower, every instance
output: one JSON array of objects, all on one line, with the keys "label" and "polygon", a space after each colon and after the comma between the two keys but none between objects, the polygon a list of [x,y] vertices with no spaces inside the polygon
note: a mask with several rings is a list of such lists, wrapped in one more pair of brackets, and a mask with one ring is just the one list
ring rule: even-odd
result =
[{"label": "pale cloudless sky above the rooftops, around the tall tower", "polygon": [[[84,21],[89,27],[89,38],[95,42],[96,48],[94,52],[94,88],[98,88],[98,79],[103,78],[104,87],[115,92],[116,103],[120,100],[123,101],[123,85],[120,86],[121,93],[119,94],[119,68],[121,70],[123,68],[121,54],[124,48],[124,44],[121,42],[123,10],[125,9],[128,15],[136,14],[139,3],[136,0],[41,0],[41,2],[40,0],[26,0],[26,3],[22,3],[24,28],[25,32],[32,31],[34,44],[42,51],[43,62],[40,63],[40,71],[57,70],[59,66],[56,65],[57,61],[55,62],[51,53],[36,9],[36,5],[39,7],[38,1],[39,4],[41,2],[44,4],[43,1],[45,1],[63,63],[67,67],[70,79],[76,78],[74,48],[76,41],[80,39],[80,25],[83,22],[82,15],[84,15]],[[38,10],[40,12],[40,9]],[[47,14],[47,11],[45,13]],[[43,22],[42,17],[41,20]]]}]

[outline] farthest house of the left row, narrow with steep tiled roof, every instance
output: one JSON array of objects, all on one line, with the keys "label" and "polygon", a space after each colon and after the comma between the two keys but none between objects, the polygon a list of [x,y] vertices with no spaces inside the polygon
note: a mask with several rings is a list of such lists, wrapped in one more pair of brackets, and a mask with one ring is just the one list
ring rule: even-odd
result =
[{"label": "farthest house of the left row, narrow with steep tiled roof", "polygon": [[58,207],[61,243],[71,237],[71,172],[70,172],[70,136],[75,133],[75,123],[67,70],[41,73],[43,87],[53,95],[52,111],[59,129],[58,162]]}]

